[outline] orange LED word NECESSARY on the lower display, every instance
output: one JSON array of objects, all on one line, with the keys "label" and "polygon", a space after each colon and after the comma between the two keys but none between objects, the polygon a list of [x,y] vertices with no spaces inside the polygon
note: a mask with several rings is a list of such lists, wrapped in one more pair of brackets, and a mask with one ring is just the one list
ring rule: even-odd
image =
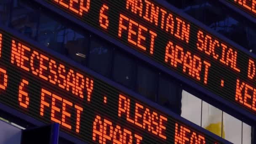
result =
[{"label": "orange LED word NECESSARY on the lower display", "polygon": [[58,64],[57,61],[39,51],[32,51],[29,47],[16,43],[14,40],[11,45],[11,64],[15,64],[53,85],[58,85],[80,98],[84,98],[83,91],[86,90],[87,100],[91,99],[93,80],[73,69],[67,69],[63,64]]}]

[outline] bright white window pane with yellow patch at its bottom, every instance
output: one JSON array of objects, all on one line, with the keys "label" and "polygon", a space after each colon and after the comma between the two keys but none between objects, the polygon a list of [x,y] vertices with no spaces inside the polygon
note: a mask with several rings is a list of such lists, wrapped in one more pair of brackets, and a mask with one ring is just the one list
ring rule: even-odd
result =
[{"label": "bright white window pane with yellow patch at its bottom", "polygon": [[202,104],[202,127],[220,136],[223,134],[222,111],[203,101]]}]

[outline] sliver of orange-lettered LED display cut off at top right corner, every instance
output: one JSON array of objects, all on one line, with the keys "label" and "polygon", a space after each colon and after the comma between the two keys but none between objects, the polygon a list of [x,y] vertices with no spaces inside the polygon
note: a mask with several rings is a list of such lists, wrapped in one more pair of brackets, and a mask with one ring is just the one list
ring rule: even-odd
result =
[{"label": "sliver of orange-lettered LED display cut off at top right corner", "polygon": [[226,0],[232,5],[237,6],[254,18],[256,17],[256,0]]}]

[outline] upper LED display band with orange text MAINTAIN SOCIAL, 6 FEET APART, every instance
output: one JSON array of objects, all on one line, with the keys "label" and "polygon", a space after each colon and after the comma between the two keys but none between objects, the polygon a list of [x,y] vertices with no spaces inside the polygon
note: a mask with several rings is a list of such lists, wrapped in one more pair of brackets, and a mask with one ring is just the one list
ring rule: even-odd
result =
[{"label": "upper LED display band with orange text MAINTAIN SOCIAL, 6 FEET APART", "polygon": [[256,59],[154,0],[45,1],[256,114]]}]

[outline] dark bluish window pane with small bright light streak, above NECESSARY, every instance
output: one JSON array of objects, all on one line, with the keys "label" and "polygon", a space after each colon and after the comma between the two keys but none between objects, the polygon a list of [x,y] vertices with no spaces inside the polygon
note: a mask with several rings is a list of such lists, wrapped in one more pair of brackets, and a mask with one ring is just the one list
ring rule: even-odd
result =
[{"label": "dark bluish window pane with small bright light streak, above NECESSARY", "polygon": [[67,49],[67,56],[79,63],[85,61],[88,41],[87,35],[80,34],[73,29],[66,29],[64,46]]}]

